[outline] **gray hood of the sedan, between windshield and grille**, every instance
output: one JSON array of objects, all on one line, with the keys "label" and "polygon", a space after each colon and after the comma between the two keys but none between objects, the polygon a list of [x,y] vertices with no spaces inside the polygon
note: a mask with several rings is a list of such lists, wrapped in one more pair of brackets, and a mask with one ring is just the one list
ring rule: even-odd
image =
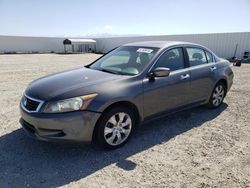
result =
[{"label": "gray hood of the sedan, between windshield and grille", "polygon": [[[35,80],[29,84],[25,94],[35,99],[48,101],[72,91],[71,97],[74,97],[77,96],[77,94],[74,95],[74,90],[107,83],[120,77],[122,76],[88,68],[78,68]],[[88,94],[87,92],[88,89],[86,89],[86,93],[81,93],[81,95]]]}]

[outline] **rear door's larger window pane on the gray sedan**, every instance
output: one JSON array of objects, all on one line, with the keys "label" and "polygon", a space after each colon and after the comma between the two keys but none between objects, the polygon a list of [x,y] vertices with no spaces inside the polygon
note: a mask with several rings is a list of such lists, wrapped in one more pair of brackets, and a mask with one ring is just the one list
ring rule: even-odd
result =
[{"label": "rear door's larger window pane on the gray sedan", "polygon": [[186,48],[190,66],[202,65],[207,63],[205,51],[199,48]]}]

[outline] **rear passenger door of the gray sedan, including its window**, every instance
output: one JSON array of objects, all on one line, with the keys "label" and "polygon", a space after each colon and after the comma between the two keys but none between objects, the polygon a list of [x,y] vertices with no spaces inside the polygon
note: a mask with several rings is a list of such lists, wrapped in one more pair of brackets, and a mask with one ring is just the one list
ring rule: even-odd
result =
[{"label": "rear passenger door of the gray sedan, including its window", "polygon": [[214,87],[216,63],[213,55],[198,47],[186,47],[190,66],[190,102],[208,99]]}]

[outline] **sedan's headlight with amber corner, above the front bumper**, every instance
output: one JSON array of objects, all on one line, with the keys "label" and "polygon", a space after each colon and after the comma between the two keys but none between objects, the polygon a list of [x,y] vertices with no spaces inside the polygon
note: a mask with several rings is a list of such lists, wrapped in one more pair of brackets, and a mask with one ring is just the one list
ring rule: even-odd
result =
[{"label": "sedan's headlight with amber corner, above the front bumper", "polygon": [[90,95],[64,99],[56,102],[49,102],[46,104],[43,112],[60,113],[60,112],[85,110],[96,96],[97,93],[94,93]]}]

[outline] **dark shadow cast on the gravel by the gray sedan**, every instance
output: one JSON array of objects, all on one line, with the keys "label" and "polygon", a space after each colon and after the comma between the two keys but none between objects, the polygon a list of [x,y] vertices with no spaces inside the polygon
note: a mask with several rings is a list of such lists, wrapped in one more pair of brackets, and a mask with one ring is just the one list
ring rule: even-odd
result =
[{"label": "dark shadow cast on the gravel by the gray sedan", "polygon": [[128,158],[216,118],[227,108],[198,107],[139,127],[122,148],[104,151],[94,145],[41,142],[22,129],[0,137],[1,187],[59,187],[87,177],[110,165],[129,171],[136,163]]}]

